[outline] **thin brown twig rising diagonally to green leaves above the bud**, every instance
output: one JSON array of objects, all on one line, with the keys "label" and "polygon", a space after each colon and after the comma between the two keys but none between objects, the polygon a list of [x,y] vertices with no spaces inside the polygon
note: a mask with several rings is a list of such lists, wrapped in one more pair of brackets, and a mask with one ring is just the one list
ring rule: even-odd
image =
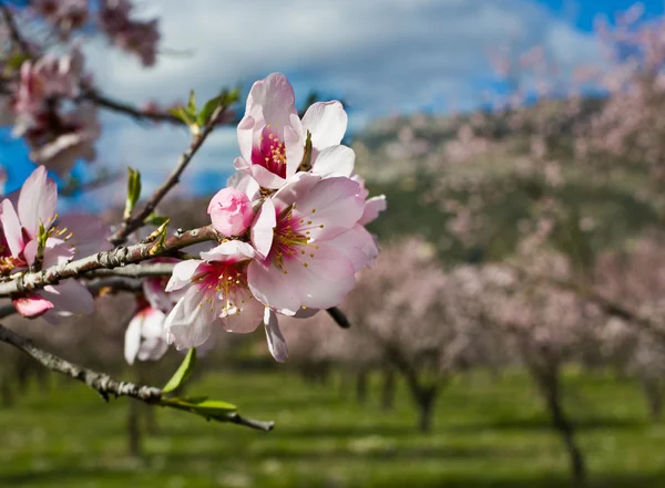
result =
[{"label": "thin brown twig rising diagonally to green leaves above the bud", "polygon": [[150,200],[147,200],[145,206],[139,212],[136,212],[136,215],[134,215],[127,220],[123,220],[117,230],[109,239],[111,243],[113,243],[114,246],[122,245],[130,233],[143,226],[143,221],[145,220],[145,218],[154,211],[154,209],[157,207],[160,201],[162,201],[162,199],[166,196],[166,194],[180,183],[181,175],[183,174],[183,172],[185,170],[185,168],[187,167],[198,148],[203,145],[207,136],[211,134],[211,132],[213,132],[217,118],[219,118],[219,116],[224,113],[225,110],[226,106],[224,105],[219,105],[217,108],[215,108],[203,129],[194,136],[194,139],[192,141],[192,144],[190,145],[187,150],[185,150],[178,157],[175,168],[173,169],[171,175],[168,175],[168,178],[166,178],[162,186],[160,186],[155,190]]}]

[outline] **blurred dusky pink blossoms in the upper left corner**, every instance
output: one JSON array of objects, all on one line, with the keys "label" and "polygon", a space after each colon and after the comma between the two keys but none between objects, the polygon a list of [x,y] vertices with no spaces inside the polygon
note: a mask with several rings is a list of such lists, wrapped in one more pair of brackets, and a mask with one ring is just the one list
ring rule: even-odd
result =
[{"label": "blurred dusky pink blossoms in the upper left corner", "polygon": [[[61,40],[85,29],[92,19],[113,45],[152,66],[160,40],[157,21],[131,19],[132,8],[129,0],[104,0],[94,10],[88,0],[30,2],[30,11],[52,25]],[[59,176],[69,174],[79,159],[94,160],[94,144],[101,133],[96,104],[86,96],[93,84],[92,76],[83,71],[79,41],[64,44],[69,52],[63,54],[49,51],[42,55],[44,46],[28,45],[17,58],[23,60],[20,68],[4,66],[0,80],[7,92],[1,123],[13,125],[13,135],[24,138],[34,163]]]}]

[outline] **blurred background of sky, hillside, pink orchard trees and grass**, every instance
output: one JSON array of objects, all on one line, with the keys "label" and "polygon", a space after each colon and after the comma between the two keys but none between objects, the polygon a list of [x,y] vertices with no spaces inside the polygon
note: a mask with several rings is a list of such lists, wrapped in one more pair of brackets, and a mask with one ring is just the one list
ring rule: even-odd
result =
[{"label": "blurred background of sky, hillside, pink orchard trees and grass", "polygon": [[[25,2],[11,2],[18,10]],[[341,310],[218,334],[186,384],[274,419],[206,424],[84,386],[0,345],[0,486],[665,486],[665,3],[628,0],[136,1],[156,62],[82,49],[102,93],[163,106],[287,74],[298,106],[341,100],[346,143],[388,210],[381,257]],[[185,127],[101,111],[96,159],[59,179],[64,209],[117,221],[126,166],[144,194]],[[6,193],[34,168],[0,133]],[[161,206],[207,222],[237,156],[218,127]],[[121,172],[94,191],[85,186]],[[127,366],[132,297],[58,326],[45,349],[162,384],[182,355]]]}]

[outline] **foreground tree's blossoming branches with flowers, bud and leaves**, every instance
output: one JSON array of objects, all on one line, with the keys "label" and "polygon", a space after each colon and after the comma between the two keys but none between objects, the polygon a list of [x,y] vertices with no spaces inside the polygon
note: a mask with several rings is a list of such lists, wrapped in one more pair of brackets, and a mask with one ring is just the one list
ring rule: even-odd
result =
[{"label": "foreground tree's blossoming branches with flowers, bud and leaves", "polygon": [[[0,325],[0,341],[105,399],[129,396],[269,429],[272,423],[244,418],[232,404],[172,392],[191,375],[195,349],[211,346],[214,331],[249,333],[260,325],[275,360],[285,361],[279,316],[311,316],[342,302],[356,273],[378,255],[365,226],[386,201],[368,198],[354,172],[354,150],[341,144],[347,128],[341,103],[314,103],[300,117],[290,83],[273,73],[249,91],[237,125],[236,173],[209,201],[209,224],[170,230],[168,219],[154,211],[214,127],[233,118],[237,93],[223,92],[201,108],[191,96],[172,111],[154,104],[139,110],[100,93],[84,70],[78,33],[96,29],[150,66],[158,23],[134,20],[132,7],[129,0],[0,2],[3,123],[13,126],[38,164],[21,189],[0,203],[0,297],[9,299],[0,315],[58,323],[90,314],[100,294],[129,292],[136,307],[125,335],[126,361],[158,360],[171,345],[188,353],[168,384],[157,388],[69,362],[13,328]],[[25,23],[39,25],[44,39],[25,38]],[[47,41],[62,43],[65,53],[47,52]],[[141,175],[130,170],[123,218],[113,227],[95,216],[58,214],[59,190],[49,177],[49,172],[68,175],[76,160],[94,159],[100,108],[183,124],[192,134],[171,175],[143,205]]]}]

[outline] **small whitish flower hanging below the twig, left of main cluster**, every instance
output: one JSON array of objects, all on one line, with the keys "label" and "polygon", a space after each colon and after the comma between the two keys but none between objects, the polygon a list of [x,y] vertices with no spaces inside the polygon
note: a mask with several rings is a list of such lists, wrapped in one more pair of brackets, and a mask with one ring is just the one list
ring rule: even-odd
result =
[{"label": "small whitish flower hanging below the twig, left of main cluster", "polygon": [[139,361],[158,361],[168,344],[164,331],[166,315],[153,309],[145,299],[140,298],[136,303],[136,313],[130,321],[125,332],[124,354],[129,364]]}]

